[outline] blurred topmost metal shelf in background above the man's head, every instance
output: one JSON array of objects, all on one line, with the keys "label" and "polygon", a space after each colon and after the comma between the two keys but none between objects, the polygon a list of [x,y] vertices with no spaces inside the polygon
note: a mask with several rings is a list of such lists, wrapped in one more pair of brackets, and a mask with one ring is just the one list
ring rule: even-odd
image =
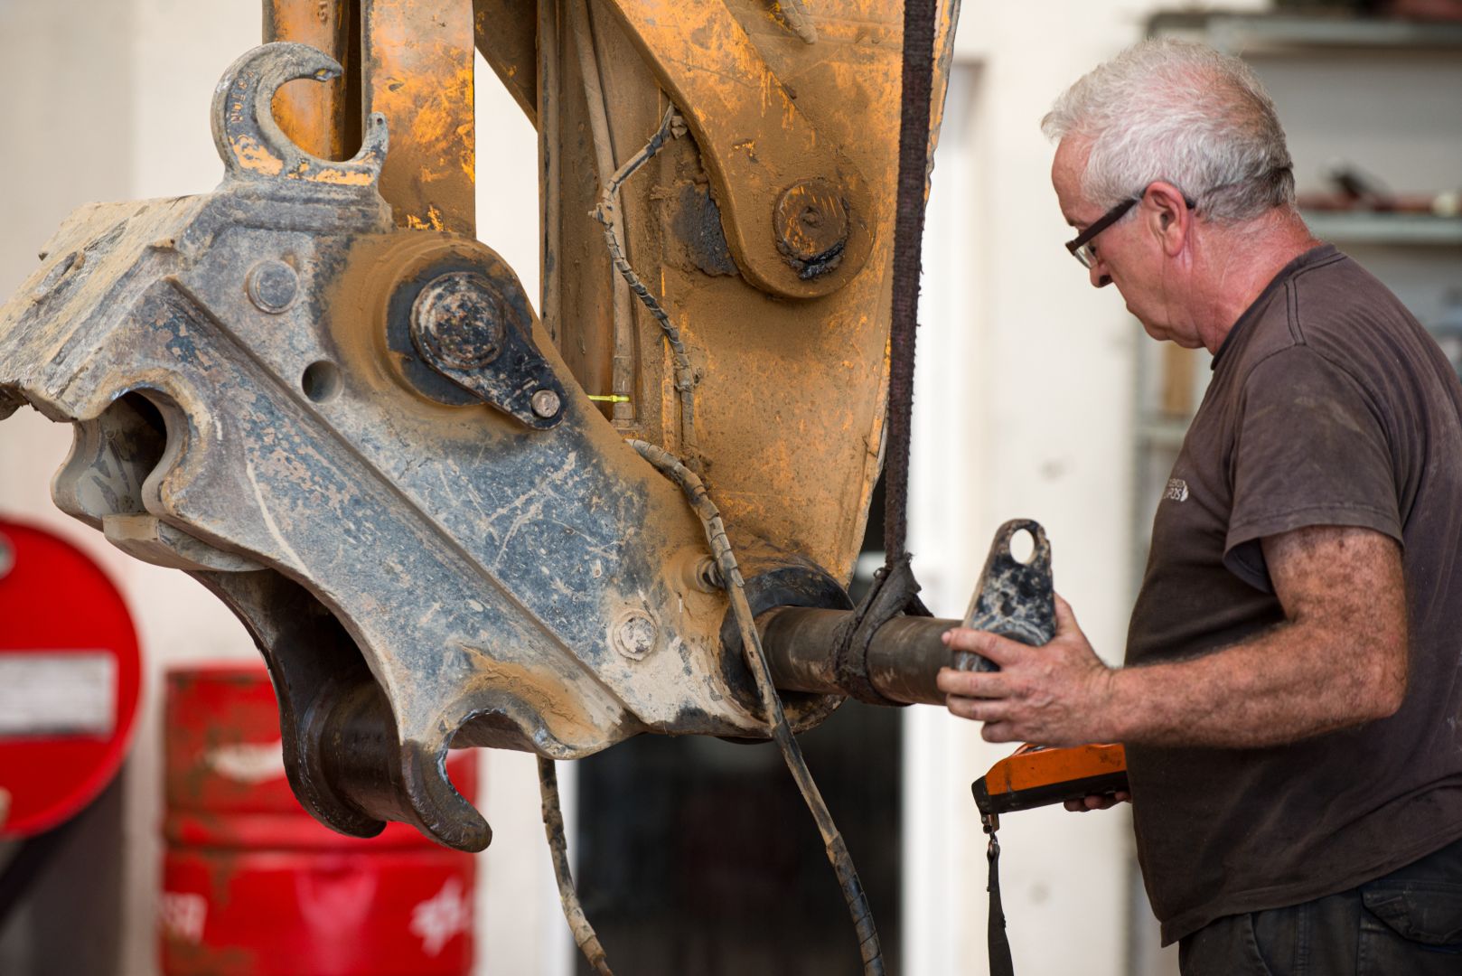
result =
[{"label": "blurred topmost metal shelf in background above the man's head", "polygon": [[1230,54],[1270,48],[1462,48],[1462,23],[1349,18],[1332,13],[1202,13],[1167,10],[1148,20],[1152,37],[1183,37]]}]

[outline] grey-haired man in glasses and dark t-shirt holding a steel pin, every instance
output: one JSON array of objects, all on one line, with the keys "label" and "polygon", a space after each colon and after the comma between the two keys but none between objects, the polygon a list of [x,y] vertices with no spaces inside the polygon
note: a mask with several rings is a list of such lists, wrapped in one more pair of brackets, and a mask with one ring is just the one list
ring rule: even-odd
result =
[{"label": "grey-haired man in glasses and dark t-shirt holding a steel pin", "polygon": [[1213,378],[1156,502],[1126,667],[1058,600],[1044,648],[947,634],[1001,667],[942,672],[949,710],[991,742],[1127,745],[1184,973],[1462,973],[1462,388],[1310,236],[1243,63],[1145,42],[1042,127],[1092,285],[1206,348]]}]

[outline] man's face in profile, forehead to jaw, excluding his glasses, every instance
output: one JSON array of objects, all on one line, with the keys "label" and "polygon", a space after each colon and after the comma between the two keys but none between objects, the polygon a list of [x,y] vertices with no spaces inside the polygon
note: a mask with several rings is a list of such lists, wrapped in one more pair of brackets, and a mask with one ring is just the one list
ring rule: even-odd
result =
[{"label": "man's face in profile, forehead to jaw, excluding his glasses", "polygon": [[[1056,187],[1061,215],[1077,231],[1085,231],[1107,212],[1107,208],[1082,196],[1082,174],[1089,154],[1091,146],[1085,142],[1063,139],[1051,162],[1051,184]],[[1133,187],[1133,193],[1140,189]],[[1174,315],[1174,269],[1162,252],[1161,240],[1148,233],[1149,217],[1146,202],[1137,203],[1091,241],[1095,252],[1088,269],[1092,287],[1117,285],[1127,310],[1142,322],[1148,335],[1196,348],[1200,345],[1197,335],[1187,335],[1189,329],[1177,322],[1181,316]]]}]

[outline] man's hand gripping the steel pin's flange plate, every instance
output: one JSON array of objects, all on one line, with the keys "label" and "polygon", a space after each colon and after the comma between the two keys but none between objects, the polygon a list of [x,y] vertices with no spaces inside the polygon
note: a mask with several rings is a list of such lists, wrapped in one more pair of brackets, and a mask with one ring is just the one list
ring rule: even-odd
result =
[{"label": "man's hand gripping the steel pin's flange plate", "polygon": [[949,711],[985,723],[980,730],[985,742],[1075,746],[1113,740],[1105,718],[1114,672],[1092,651],[1061,597],[1056,597],[1056,637],[1045,647],[968,628],[946,632],[944,644],[1000,666],[994,673],[939,672]]}]

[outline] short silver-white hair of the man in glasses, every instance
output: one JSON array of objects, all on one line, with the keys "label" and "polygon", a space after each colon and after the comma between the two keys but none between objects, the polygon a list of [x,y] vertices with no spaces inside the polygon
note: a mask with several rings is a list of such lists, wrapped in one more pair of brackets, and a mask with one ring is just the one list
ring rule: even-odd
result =
[{"label": "short silver-white hair of the man in glasses", "polygon": [[1237,57],[1171,38],[1083,75],[1041,120],[1091,143],[1082,195],[1116,206],[1162,180],[1202,217],[1243,222],[1294,205],[1294,164],[1273,101]]}]

